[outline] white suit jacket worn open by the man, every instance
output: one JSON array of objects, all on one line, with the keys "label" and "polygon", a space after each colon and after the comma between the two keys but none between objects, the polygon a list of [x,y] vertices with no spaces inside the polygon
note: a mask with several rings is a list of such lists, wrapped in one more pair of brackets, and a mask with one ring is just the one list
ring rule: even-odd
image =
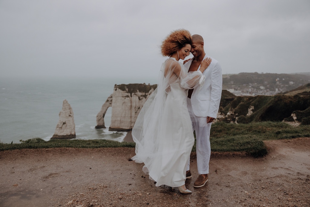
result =
[{"label": "white suit jacket worn open by the man", "polygon": [[[205,55],[205,58],[209,57]],[[194,58],[184,64],[189,69]],[[212,61],[208,68],[203,71],[203,75],[206,76],[205,82],[202,87],[194,88],[191,103],[193,112],[198,117],[217,117],[219,111],[219,102],[222,95],[222,68],[217,60],[211,58]],[[198,70],[200,69],[200,66]]]}]

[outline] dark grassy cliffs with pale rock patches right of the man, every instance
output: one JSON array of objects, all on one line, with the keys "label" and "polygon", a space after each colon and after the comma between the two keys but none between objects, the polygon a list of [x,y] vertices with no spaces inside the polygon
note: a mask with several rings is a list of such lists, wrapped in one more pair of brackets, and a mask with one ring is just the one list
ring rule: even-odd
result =
[{"label": "dark grassy cliffs with pale rock patches right of the man", "polygon": [[310,123],[310,96],[222,97],[218,121],[247,124],[284,121],[291,125]]}]

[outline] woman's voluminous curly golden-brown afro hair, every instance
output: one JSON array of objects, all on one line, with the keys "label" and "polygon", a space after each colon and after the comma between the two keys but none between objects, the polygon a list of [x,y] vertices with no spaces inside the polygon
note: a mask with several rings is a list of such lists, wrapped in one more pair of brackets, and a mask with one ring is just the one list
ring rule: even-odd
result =
[{"label": "woman's voluminous curly golden-brown afro hair", "polygon": [[172,31],[166,39],[162,41],[162,55],[171,56],[173,53],[185,47],[186,44],[192,45],[192,35],[186,29]]}]

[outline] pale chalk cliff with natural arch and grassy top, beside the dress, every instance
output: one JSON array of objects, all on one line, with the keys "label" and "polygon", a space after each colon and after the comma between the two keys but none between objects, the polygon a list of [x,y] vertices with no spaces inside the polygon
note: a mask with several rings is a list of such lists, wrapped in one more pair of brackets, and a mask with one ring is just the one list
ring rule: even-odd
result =
[{"label": "pale chalk cliff with natural arch and grassy top, beside the dress", "polygon": [[113,94],[108,97],[97,115],[95,128],[105,128],[104,115],[108,107],[112,107],[109,131],[130,131],[145,101],[156,88],[157,85],[145,83],[114,85]]}]

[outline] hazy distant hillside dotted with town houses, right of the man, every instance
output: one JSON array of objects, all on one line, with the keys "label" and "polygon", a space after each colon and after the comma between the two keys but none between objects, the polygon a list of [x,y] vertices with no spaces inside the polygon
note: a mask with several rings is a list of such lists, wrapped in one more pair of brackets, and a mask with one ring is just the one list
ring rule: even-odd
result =
[{"label": "hazy distant hillside dotted with town houses, right of the man", "polygon": [[223,89],[236,96],[272,96],[310,83],[310,73],[223,74]]}]

